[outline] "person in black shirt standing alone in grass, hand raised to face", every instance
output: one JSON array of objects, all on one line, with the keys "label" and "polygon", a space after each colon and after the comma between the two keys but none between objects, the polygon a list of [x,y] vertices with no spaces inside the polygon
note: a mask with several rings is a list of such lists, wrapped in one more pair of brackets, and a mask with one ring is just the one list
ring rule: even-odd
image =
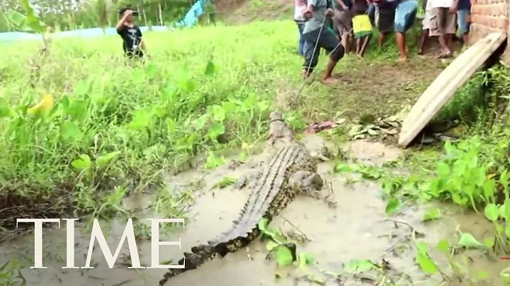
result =
[{"label": "person in black shirt standing alone in grass, hand raised to face", "polygon": [[[147,52],[145,42],[142,39],[142,31],[132,21],[133,11],[131,8],[122,8],[119,13],[122,18],[118,21],[117,33],[123,39],[123,50],[128,57],[141,58]],[[135,14],[136,15],[136,14]]]}]

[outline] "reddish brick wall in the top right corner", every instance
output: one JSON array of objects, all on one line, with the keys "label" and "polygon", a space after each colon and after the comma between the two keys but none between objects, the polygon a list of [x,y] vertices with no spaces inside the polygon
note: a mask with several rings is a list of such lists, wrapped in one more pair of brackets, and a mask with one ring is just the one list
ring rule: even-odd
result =
[{"label": "reddish brick wall in the top right corner", "polygon": [[508,33],[508,11],[506,0],[471,0],[470,42],[474,43],[491,32]]}]

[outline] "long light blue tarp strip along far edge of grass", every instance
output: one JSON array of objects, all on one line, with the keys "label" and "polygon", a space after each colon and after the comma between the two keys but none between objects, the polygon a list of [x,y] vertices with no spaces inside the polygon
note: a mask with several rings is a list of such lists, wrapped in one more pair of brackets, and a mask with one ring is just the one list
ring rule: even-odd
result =
[{"label": "long light blue tarp strip along far edge of grass", "polygon": [[[208,0],[198,0],[191,6],[190,10],[183,19],[177,22],[176,27],[191,27],[198,22],[198,18],[202,16],[204,11],[205,3]],[[174,30],[173,27],[167,27],[164,25],[154,25],[150,28],[153,31],[169,31]],[[143,26],[140,27],[142,33],[145,33],[149,30],[149,27]],[[80,29],[80,30],[66,30],[62,32],[56,32],[52,36],[56,38],[60,37],[80,37],[80,38],[96,38],[101,37],[103,35],[117,35],[117,31],[115,28],[106,28],[103,31],[102,28],[88,28],[88,29]],[[42,40],[42,36],[38,34],[31,33],[23,33],[23,32],[8,32],[8,33],[0,33],[0,42],[12,42],[16,40]]]}]

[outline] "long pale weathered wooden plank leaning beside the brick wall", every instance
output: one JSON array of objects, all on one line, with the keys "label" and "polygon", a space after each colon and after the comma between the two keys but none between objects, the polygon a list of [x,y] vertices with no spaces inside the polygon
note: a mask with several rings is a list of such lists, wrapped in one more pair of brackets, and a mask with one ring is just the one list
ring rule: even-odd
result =
[{"label": "long pale weathered wooden plank leaning beside the brick wall", "polygon": [[455,91],[469,79],[475,71],[494,53],[506,40],[503,33],[490,33],[475,42],[460,54],[421,94],[420,98],[402,122],[399,134],[399,145],[407,147],[414,137],[424,129],[443,105],[453,96]]}]

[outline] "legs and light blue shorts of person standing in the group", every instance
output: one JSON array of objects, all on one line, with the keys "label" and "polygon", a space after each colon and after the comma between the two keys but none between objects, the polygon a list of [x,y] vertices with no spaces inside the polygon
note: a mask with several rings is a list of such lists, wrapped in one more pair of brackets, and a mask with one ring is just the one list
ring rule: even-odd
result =
[{"label": "legs and light blue shorts of person standing in the group", "polygon": [[411,28],[418,11],[418,1],[407,0],[397,5],[395,9],[395,40],[400,54],[400,61],[407,60],[407,52],[409,52],[406,42],[405,33]]}]

